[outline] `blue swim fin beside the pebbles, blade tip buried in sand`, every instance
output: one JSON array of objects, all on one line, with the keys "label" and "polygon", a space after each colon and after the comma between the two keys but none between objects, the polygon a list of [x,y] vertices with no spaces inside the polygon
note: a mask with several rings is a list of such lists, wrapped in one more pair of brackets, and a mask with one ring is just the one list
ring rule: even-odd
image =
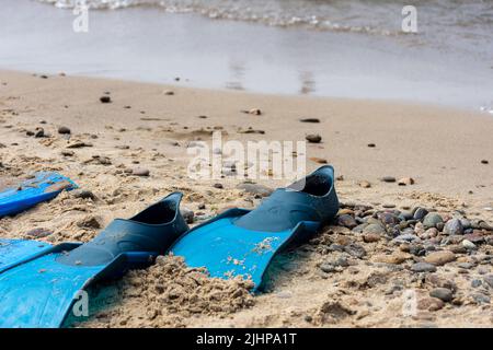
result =
[{"label": "blue swim fin beside the pebbles, blade tip buried in sand", "polygon": [[337,211],[334,168],[326,165],[275,190],[255,210],[230,209],[192,229],[170,250],[211,277],[250,278],[257,290],[276,253],[310,238]]}]

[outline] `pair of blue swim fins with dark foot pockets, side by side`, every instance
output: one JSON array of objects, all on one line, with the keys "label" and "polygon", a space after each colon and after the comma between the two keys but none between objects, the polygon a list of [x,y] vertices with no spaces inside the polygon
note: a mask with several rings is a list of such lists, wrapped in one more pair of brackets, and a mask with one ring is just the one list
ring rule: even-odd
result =
[{"label": "pair of blue swim fins with dark foot pockets, side by side", "polygon": [[250,278],[259,290],[275,254],[311,237],[339,210],[329,165],[301,186],[275,190],[255,210],[231,209],[192,230],[180,214],[181,198],[174,192],[116,219],[85,244],[0,240],[0,327],[59,327],[80,290],[167,253],[211,277]]}]

